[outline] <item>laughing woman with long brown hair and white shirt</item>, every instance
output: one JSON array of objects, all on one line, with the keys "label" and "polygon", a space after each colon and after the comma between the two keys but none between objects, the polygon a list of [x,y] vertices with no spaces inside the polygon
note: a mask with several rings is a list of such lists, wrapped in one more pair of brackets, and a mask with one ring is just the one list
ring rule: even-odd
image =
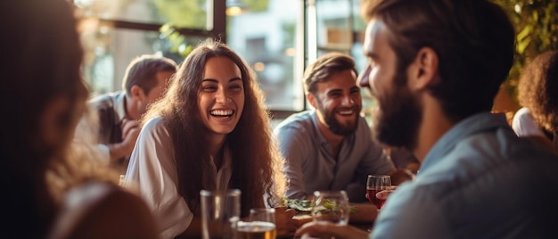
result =
[{"label": "laughing woman with long brown hair and white shirt", "polygon": [[[137,187],[160,236],[201,236],[200,191],[240,189],[242,217],[280,202],[286,180],[263,95],[249,65],[207,39],[185,59],[168,93],[142,119],[125,185]],[[294,210],[276,210],[279,235]]]}]

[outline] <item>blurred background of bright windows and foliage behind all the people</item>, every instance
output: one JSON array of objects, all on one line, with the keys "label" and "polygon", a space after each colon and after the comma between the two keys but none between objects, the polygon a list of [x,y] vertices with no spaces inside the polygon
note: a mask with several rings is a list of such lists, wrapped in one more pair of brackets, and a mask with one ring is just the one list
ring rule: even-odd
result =
[{"label": "blurred background of bright windows and foliage behind all the people", "polygon": [[[360,0],[73,0],[86,50],[84,76],[92,96],[121,89],[127,64],[140,54],[182,62],[214,37],[241,54],[258,74],[275,121],[308,108],[302,72],[317,56],[351,54],[362,70],[365,22]],[[516,27],[516,59],[496,96],[495,111],[519,108],[515,86],[536,54],[558,49],[558,0],[494,0]],[[373,100],[363,90],[363,114]]]}]

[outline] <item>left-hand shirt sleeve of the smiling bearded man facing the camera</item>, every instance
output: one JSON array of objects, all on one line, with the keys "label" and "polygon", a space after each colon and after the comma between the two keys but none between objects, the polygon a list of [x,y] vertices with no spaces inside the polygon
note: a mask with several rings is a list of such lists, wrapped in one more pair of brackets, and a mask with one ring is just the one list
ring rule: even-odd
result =
[{"label": "left-hand shirt sleeve of the smiling bearded man facing the camera", "polygon": [[304,199],[308,195],[302,167],[308,157],[308,149],[314,148],[308,140],[308,133],[304,128],[297,127],[296,123],[275,128],[274,133],[279,143],[279,151],[285,158],[284,169],[289,179],[286,196]]}]

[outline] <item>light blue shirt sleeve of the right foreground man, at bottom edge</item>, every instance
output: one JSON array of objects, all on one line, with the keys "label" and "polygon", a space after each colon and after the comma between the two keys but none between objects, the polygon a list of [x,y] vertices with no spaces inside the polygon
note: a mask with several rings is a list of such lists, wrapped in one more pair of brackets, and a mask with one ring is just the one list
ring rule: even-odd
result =
[{"label": "light blue shirt sleeve of the right foreground man, at bottom edge", "polygon": [[440,208],[435,199],[402,185],[388,197],[374,222],[371,238],[454,238]]}]

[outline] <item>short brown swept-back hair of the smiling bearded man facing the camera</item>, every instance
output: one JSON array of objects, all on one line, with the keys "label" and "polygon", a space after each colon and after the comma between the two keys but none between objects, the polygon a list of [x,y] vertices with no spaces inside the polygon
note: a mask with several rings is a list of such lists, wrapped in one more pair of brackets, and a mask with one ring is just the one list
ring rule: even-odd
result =
[{"label": "short brown swept-back hair of the smiling bearded man facing the camera", "polygon": [[348,54],[328,53],[324,54],[316,62],[312,62],[304,70],[304,88],[311,94],[316,94],[316,84],[328,80],[332,74],[343,70],[353,70],[358,76],[355,61]]}]

